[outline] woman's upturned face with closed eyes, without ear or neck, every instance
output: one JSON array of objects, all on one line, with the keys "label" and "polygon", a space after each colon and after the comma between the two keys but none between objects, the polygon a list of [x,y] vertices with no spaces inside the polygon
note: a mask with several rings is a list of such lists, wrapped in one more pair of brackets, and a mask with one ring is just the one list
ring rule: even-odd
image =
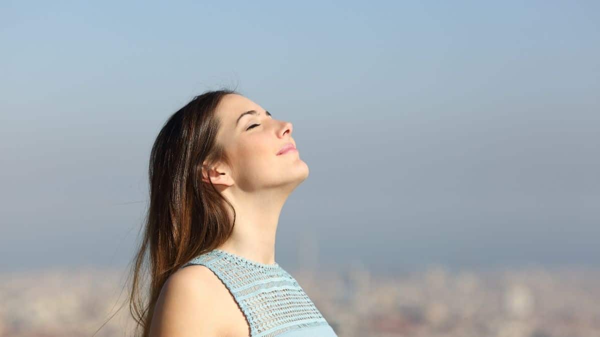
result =
[{"label": "woman's upturned face with closed eyes, without ear or neck", "polygon": [[[251,110],[255,113],[245,113]],[[298,151],[277,155],[287,143],[296,146],[290,122],[275,119],[277,116],[237,94],[221,99],[217,116],[221,121],[217,141],[232,162],[229,173],[238,188],[293,188],[308,177],[308,166]]]}]

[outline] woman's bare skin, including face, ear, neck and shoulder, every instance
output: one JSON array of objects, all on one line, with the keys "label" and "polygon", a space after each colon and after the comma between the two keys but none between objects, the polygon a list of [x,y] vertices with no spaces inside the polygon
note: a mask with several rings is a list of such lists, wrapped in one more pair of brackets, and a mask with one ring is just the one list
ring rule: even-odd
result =
[{"label": "woman's bare skin, including face, ear, neck and shoulder", "polygon": [[[256,110],[258,115],[245,115],[236,125],[239,115],[248,110]],[[237,94],[223,97],[217,118],[221,121],[217,142],[225,147],[232,166],[205,166],[203,181],[209,183],[210,176],[236,210],[233,234],[218,248],[274,264],[281,208],[308,177],[308,166],[298,152],[277,155],[286,143],[296,145],[292,124],[268,116],[258,104]],[[233,219],[233,212],[230,216]],[[165,282],[152,317],[151,337],[249,335],[247,320],[233,296],[207,267],[185,267]]]}]

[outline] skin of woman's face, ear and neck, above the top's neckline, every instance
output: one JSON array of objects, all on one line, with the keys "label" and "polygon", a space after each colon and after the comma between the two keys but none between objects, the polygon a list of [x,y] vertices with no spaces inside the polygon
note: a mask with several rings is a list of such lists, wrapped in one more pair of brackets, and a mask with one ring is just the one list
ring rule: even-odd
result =
[{"label": "skin of woman's face, ear and neck, above the top's neckline", "polygon": [[[245,115],[248,110],[259,115]],[[226,149],[232,167],[205,167],[203,180],[212,183],[235,207],[232,236],[218,247],[259,263],[275,263],[275,233],[281,208],[290,193],[308,177],[299,152],[276,155],[292,138],[292,124],[268,116],[265,109],[242,95],[229,94],[217,107],[221,121],[217,142]],[[258,124],[258,125],[254,125]],[[248,127],[253,128],[247,130]],[[233,219],[233,213],[231,212]]]}]

